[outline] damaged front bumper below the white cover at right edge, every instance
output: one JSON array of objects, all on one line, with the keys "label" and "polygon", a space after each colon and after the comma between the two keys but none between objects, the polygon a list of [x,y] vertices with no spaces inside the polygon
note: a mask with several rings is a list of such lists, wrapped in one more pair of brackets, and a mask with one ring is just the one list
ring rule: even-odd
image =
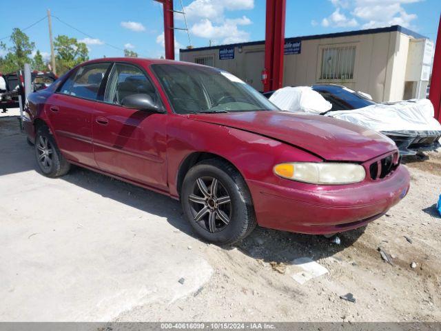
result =
[{"label": "damaged front bumper below the white cover at right edge", "polygon": [[400,130],[381,133],[396,143],[401,155],[415,155],[417,152],[436,150],[441,147],[441,130]]}]

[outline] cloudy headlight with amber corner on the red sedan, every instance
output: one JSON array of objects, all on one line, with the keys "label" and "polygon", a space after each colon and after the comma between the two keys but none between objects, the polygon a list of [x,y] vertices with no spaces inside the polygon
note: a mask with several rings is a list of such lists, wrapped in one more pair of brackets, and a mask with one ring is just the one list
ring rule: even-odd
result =
[{"label": "cloudy headlight with amber corner on the red sedan", "polygon": [[365,179],[362,165],[355,163],[292,162],[274,166],[274,174],[293,181],[313,184],[349,184]]}]

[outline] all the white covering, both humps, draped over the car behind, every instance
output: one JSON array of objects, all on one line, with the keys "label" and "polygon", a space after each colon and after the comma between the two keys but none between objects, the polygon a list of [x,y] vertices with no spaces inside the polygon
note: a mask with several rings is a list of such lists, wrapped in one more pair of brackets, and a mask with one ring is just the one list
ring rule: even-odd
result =
[{"label": "all the white covering, both humps, draped over the car behind", "polygon": [[333,111],[331,103],[310,86],[280,88],[269,98],[278,108],[289,112],[307,112],[348,121],[376,131],[441,130],[433,118],[433,105],[428,99],[397,103],[376,103],[354,110]]}]

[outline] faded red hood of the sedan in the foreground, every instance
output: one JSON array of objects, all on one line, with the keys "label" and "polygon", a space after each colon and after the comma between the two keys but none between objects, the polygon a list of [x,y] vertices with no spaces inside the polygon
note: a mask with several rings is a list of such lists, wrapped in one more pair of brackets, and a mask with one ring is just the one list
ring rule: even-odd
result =
[{"label": "faded red hood of the sedan in the foreground", "polygon": [[190,114],[189,119],[260,134],[329,161],[364,162],[396,150],[383,134],[320,115],[260,111]]}]

